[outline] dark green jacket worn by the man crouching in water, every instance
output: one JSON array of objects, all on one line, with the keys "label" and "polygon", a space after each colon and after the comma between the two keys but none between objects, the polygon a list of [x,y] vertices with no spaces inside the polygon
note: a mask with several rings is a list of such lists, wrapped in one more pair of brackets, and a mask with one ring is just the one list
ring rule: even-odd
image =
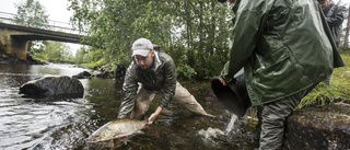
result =
[{"label": "dark green jacket worn by the man crouching in water", "polygon": [[173,100],[176,88],[176,68],[171,56],[155,51],[153,64],[148,70],[138,68],[135,61],[130,64],[125,74],[122,84],[122,102],[119,108],[118,118],[130,115],[133,109],[138,83],[143,88],[154,91],[163,91],[159,106],[166,107]]}]

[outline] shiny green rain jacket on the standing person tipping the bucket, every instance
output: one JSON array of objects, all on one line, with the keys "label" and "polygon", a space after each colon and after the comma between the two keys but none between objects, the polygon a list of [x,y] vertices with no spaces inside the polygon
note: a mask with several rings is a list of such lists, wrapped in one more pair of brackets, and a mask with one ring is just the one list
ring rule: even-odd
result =
[{"label": "shiny green rain jacket on the standing person tipping the bucket", "polygon": [[237,0],[225,81],[244,67],[253,105],[293,95],[345,66],[316,0]]}]

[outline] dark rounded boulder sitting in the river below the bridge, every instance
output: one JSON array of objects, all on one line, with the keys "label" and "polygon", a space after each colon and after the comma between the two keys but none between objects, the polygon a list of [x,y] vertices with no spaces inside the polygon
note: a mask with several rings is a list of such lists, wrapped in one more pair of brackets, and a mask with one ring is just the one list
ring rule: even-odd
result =
[{"label": "dark rounded boulder sitting in the river below the bridge", "polygon": [[67,76],[45,77],[21,85],[20,94],[30,97],[82,97],[84,88],[78,79]]}]

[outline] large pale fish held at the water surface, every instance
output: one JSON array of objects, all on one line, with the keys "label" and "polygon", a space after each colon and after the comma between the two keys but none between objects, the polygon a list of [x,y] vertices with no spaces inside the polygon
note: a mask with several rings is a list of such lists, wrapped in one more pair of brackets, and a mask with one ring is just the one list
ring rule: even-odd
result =
[{"label": "large pale fish held at the water surface", "polygon": [[132,119],[132,118],[120,118],[112,120],[96,131],[94,131],[88,139],[88,142],[100,142],[107,141],[118,138],[124,138],[140,131],[148,120]]}]

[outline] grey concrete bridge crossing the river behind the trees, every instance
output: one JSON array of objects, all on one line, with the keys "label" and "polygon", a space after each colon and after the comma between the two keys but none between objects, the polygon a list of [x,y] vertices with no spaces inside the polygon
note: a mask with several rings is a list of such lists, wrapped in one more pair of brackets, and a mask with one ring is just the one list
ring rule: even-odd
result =
[{"label": "grey concrete bridge crossing the river behind the trees", "polygon": [[71,33],[27,27],[0,22],[0,35],[10,36],[10,53],[20,59],[26,59],[28,41],[57,41],[82,44],[84,36]]}]

